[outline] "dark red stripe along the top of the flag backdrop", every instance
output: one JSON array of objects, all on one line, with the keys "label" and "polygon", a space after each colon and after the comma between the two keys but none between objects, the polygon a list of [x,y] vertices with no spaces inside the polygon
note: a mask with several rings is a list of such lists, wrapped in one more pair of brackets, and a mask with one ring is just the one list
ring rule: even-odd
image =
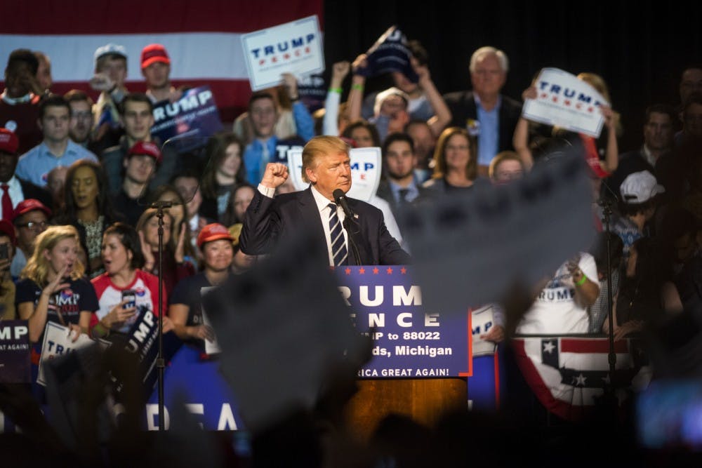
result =
[{"label": "dark red stripe along the top of the flag backdrop", "polygon": [[65,0],[37,8],[31,1],[0,0],[7,13],[0,34],[251,32],[311,15],[322,28],[323,6],[322,0]]}]

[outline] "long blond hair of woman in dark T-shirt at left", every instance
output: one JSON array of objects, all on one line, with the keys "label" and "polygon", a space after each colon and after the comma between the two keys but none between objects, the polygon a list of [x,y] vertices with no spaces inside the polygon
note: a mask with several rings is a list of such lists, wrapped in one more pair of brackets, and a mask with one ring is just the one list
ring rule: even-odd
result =
[{"label": "long blond hair of woman in dark T-shirt at left", "polygon": [[[63,239],[74,239],[77,245],[80,246],[81,239],[78,236],[78,231],[75,227],[70,225],[65,226],[50,226],[46,228],[46,231],[42,232],[37,236],[37,240],[34,243],[34,252],[32,256],[27,260],[27,265],[22,269],[20,274],[21,279],[31,279],[34,283],[37,283],[40,287],[46,286],[48,283],[48,271],[51,265],[46,259],[44,252],[48,250],[51,252],[53,248]],[[85,273],[85,267],[78,258],[73,266],[73,271],[71,272],[71,279],[79,279]]]}]

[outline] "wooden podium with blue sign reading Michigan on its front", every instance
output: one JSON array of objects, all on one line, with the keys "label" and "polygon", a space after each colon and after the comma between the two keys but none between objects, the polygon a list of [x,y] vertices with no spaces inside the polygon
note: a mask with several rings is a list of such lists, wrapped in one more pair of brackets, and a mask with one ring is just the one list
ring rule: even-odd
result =
[{"label": "wooden podium with blue sign reading Michigan on its front", "polygon": [[[336,269],[360,333],[373,339],[373,359],[347,404],[348,427],[368,439],[390,414],[432,427],[468,407],[468,310],[428,311],[410,266]],[[446,312],[446,313],[444,313]]]}]

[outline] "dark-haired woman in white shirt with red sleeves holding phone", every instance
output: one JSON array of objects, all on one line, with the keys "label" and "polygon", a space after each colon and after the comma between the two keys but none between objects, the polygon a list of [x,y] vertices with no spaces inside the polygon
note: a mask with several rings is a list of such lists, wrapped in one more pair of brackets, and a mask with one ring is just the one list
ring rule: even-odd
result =
[{"label": "dark-haired woman in white shirt with red sleeves holding phone", "polygon": [[[159,315],[159,280],[144,272],[144,255],[136,230],[123,222],[115,222],[102,235],[102,264],[105,273],[91,281],[100,307],[93,335],[106,337],[125,334],[142,313]],[[166,291],[163,291],[164,308]],[[171,321],[164,316],[164,333],[171,330]]]}]

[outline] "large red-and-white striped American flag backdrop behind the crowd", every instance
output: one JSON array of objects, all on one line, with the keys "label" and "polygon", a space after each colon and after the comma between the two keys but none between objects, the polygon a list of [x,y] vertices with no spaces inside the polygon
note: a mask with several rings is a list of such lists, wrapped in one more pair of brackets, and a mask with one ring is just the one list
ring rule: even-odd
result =
[{"label": "large red-and-white striped American flag backdrop behind the crowd", "polygon": [[310,15],[323,29],[322,7],[323,0],[0,0],[0,63],[4,69],[15,48],[42,51],[51,58],[51,91],[77,88],[97,98],[88,86],[96,48],[125,46],[126,86],[145,91],[141,50],[164,44],[173,85],[209,85],[223,121],[233,121],[251,95],[241,34]]}]

